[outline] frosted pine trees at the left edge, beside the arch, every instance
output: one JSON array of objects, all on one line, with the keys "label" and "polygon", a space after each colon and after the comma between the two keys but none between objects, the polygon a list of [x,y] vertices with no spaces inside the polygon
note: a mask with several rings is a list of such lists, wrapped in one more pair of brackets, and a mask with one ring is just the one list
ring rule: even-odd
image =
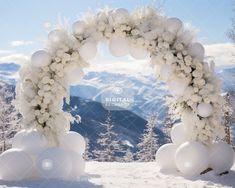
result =
[{"label": "frosted pine trees at the left edge, beside the arch", "polygon": [[14,92],[1,86],[0,88],[0,152],[11,147],[10,139],[20,129],[21,116],[12,104]]}]

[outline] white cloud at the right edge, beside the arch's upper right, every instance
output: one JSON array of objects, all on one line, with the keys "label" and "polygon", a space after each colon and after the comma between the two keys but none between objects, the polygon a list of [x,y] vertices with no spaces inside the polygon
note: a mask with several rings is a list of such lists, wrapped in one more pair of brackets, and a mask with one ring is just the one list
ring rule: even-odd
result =
[{"label": "white cloud at the right edge, beside the arch's upper right", "polygon": [[206,56],[212,58],[217,67],[235,66],[235,47],[231,43],[204,45]]}]

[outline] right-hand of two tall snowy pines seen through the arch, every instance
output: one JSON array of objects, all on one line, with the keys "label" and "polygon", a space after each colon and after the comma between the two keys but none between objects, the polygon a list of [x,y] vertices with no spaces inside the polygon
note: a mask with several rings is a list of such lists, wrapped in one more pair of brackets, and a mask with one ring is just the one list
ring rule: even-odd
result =
[{"label": "right-hand of two tall snowy pines seen through the arch", "polygon": [[153,161],[158,149],[158,137],[154,132],[157,115],[152,113],[148,117],[147,127],[143,133],[140,143],[137,145],[138,152],[136,157],[138,161]]}]

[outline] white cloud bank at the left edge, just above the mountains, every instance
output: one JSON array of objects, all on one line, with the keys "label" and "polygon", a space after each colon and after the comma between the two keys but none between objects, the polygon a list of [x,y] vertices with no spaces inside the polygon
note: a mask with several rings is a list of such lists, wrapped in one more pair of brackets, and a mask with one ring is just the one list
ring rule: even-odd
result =
[{"label": "white cloud bank at the left edge, just above the mountains", "polygon": [[19,65],[23,65],[28,61],[29,61],[29,56],[20,53],[0,56],[0,63],[16,63]]}]

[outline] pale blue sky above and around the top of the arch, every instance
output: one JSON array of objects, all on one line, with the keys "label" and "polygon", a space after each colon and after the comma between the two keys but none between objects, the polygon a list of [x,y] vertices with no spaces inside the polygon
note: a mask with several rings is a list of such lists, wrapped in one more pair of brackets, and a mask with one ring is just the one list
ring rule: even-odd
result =
[{"label": "pale blue sky above and around the top of the arch", "polygon": [[165,15],[192,24],[204,44],[229,42],[232,0],[0,0],[0,51],[31,53],[41,48],[45,23],[54,25],[58,17],[72,24],[89,10],[109,6],[131,11],[141,5],[160,6]]}]

